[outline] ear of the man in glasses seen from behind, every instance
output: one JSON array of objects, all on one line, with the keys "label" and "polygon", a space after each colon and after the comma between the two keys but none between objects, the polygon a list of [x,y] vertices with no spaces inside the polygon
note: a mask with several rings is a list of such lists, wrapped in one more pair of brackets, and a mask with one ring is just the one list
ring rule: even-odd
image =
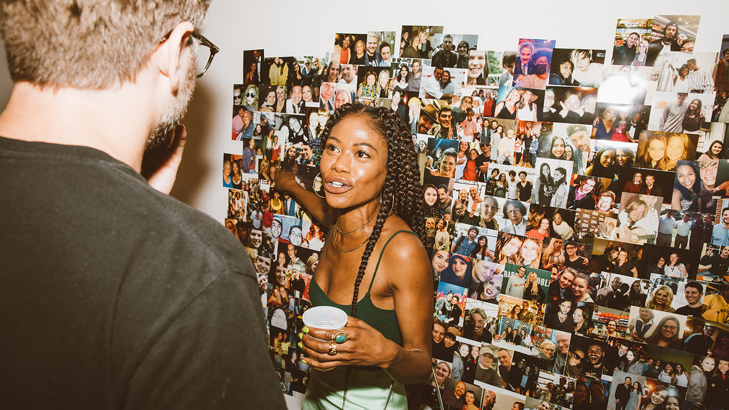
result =
[{"label": "ear of the man in glasses seen from behind", "polygon": [[167,39],[160,45],[160,72],[168,77],[170,89],[177,93],[181,84],[187,80],[187,64],[192,64],[192,31],[195,26],[189,21],[179,23]]}]

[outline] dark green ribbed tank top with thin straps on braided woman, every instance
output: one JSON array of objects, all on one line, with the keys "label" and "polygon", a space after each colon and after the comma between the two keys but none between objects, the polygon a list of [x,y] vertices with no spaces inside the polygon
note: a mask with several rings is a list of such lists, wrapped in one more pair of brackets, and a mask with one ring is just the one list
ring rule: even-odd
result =
[{"label": "dark green ribbed tank top with thin straps on braided woman", "polygon": [[[395,237],[395,235],[400,232],[407,232],[416,235],[416,233],[412,231],[397,231],[393,233],[392,236],[390,236],[390,239],[385,242],[385,246],[382,247],[382,251],[380,252],[380,258],[377,260],[377,266],[375,266],[375,273],[372,276],[370,287],[367,289],[367,293],[364,294],[364,298],[360,299],[357,302],[357,319],[364,320],[367,325],[372,326],[373,328],[378,330],[378,332],[382,333],[382,335],[385,336],[387,339],[390,339],[397,344],[402,343],[402,335],[400,334],[400,327],[399,325],[397,325],[397,316],[395,315],[395,311],[380,309],[375,306],[374,303],[372,303],[372,298],[370,297],[370,290],[372,290],[372,285],[375,282],[377,269],[380,267],[380,261],[382,260],[382,255],[385,252],[385,248]],[[329,240],[328,236],[327,240]],[[311,301],[311,304],[313,306],[334,306],[336,308],[342,309],[344,312],[346,312],[346,314],[350,316],[352,314],[351,305],[340,305],[339,303],[332,302],[329,296],[324,293],[324,290],[321,290],[321,287],[319,287],[319,284],[316,283],[316,280],[314,280],[313,276],[311,277],[311,282],[309,283],[309,300]]]}]

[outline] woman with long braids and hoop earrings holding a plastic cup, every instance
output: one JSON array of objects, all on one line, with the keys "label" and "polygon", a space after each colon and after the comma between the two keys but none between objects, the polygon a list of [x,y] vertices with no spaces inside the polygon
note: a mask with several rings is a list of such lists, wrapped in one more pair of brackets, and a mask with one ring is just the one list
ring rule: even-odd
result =
[{"label": "woman with long braids and hoop earrings holding a plastic cup", "polygon": [[432,372],[432,273],[410,129],[391,109],[345,104],[321,141],[325,199],[292,174],[276,175],[279,190],[332,227],[311,279],[311,303],[349,315],[342,331],[303,328],[300,347],[312,372],[302,409],[405,409],[403,384],[426,382]]}]

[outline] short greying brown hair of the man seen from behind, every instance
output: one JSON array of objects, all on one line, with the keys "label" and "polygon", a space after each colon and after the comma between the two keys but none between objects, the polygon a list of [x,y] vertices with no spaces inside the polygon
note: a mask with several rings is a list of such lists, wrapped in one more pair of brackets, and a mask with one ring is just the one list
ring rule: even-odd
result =
[{"label": "short greying brown hair of the man seen from behind", "polygon": [[106,89],[133,81],[175,26],[203,27],[210,0],[4,1],[10,77],[39,86]]}]

